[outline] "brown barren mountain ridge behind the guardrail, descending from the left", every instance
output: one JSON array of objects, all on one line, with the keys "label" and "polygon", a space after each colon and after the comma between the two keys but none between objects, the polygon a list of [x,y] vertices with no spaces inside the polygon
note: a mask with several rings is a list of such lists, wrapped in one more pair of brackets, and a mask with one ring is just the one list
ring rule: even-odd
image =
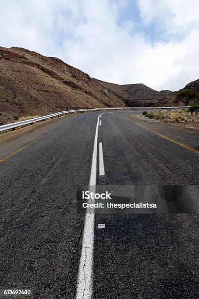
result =
[{"label": "brown barren mountain ridge behind the guardrail, descending from the left", "polygon": [[171,105],[173,97],[169,90],[103,82],[58,58],[0,47],[0,124],[67,109]]}]

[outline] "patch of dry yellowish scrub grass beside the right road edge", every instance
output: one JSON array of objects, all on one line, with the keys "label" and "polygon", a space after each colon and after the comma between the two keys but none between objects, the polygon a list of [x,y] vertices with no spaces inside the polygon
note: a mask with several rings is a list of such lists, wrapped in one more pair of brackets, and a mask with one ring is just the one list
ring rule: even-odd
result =
[{"label": "patch of dry yellowish scrub grass beside the right road edge", "polygon": [[[149,116],[149,113],[145,116]],[[153,112],[153,118],[157,120],[167,120],[173,122],[183,122],[183,123],[199,123],[199,112],[188,112],[188,110],[182,109],[177,111],[167,110]]]}]

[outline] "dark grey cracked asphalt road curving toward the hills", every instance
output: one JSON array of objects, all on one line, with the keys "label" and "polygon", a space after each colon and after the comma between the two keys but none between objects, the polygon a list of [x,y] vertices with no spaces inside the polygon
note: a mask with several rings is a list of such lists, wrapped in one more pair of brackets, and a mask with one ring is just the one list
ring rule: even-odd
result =
[{"label": "dark grey cracked asphalt road curving toward the hills", "polygon": [[[199,185],[198,130],[139,112],[104,113],[93,152],[100,114],[60,118],[0,143],[0,288],[75,298],[85,238],[77,188],[91,179],[96,188]],[[84,298],[199,298],[197,214],[95,214],[93,221]]]}]

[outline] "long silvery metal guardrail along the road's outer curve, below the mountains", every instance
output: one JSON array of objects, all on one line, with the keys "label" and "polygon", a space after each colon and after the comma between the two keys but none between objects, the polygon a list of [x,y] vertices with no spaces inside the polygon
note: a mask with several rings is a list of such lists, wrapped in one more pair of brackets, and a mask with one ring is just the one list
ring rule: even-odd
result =
[{"label": "long silvery metal guardrail along the road's outer curve, below the mountains", "polygon": [[75,112],[87,112],[87,111],[99,111],[99,110],[119,110],[119,109],[121,109],[121,110],[123,110],[123,109],[132,109],[132,110],[175,109],[175,108],[189,108],[189,107],[190,106],[183,106],[183,107],[117,107],[117,108],[93,108],[93,109],[67,110],[67,111],[60,111],[60,112],[45,115],[45,116],[40,116],[37,118],[28,119],[28,120],[21,121],[21,122],[3,125],[3,126],[0,126],[0,131],[5,131],[5,130],[9,130],[9,129],[14,130],[15,128],[29,125],[29,124],[32,125],[35,122],[39,122],[39,121],[42,121],[42,120],[45,120],[48,118],[53,118],[55,116],[60,116],[63,114],[75,113]]}]

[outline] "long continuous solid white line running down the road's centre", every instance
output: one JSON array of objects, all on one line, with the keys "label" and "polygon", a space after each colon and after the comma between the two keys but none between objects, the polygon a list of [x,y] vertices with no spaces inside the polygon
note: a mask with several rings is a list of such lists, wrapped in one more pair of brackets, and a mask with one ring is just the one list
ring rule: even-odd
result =
[{"label": "long continuous solid white line running down the road's centre", "polygon": [[[120,112],[120,111],[117,111]],[[116,111],[104,112],[98,116],[94,148],[93,159],[91,165],[91,176],[89,182],[89,191],[96,191],[96,176],[97,176],[97,152],[98,152],[98,128],[99,119],[102,114],[116,113]],[[87,203],[95,203],[95,199],[88,199]],[[85,223],[83,229],[83,239],[80,257],[80,266],[78,273],[78,285],[77,285],[77,299],[91,299],[92,297],[92,268],[93,268],[93,246],[94,246],[94,222],[95,222],[95,209],[87,209],[85,215]]]}]

